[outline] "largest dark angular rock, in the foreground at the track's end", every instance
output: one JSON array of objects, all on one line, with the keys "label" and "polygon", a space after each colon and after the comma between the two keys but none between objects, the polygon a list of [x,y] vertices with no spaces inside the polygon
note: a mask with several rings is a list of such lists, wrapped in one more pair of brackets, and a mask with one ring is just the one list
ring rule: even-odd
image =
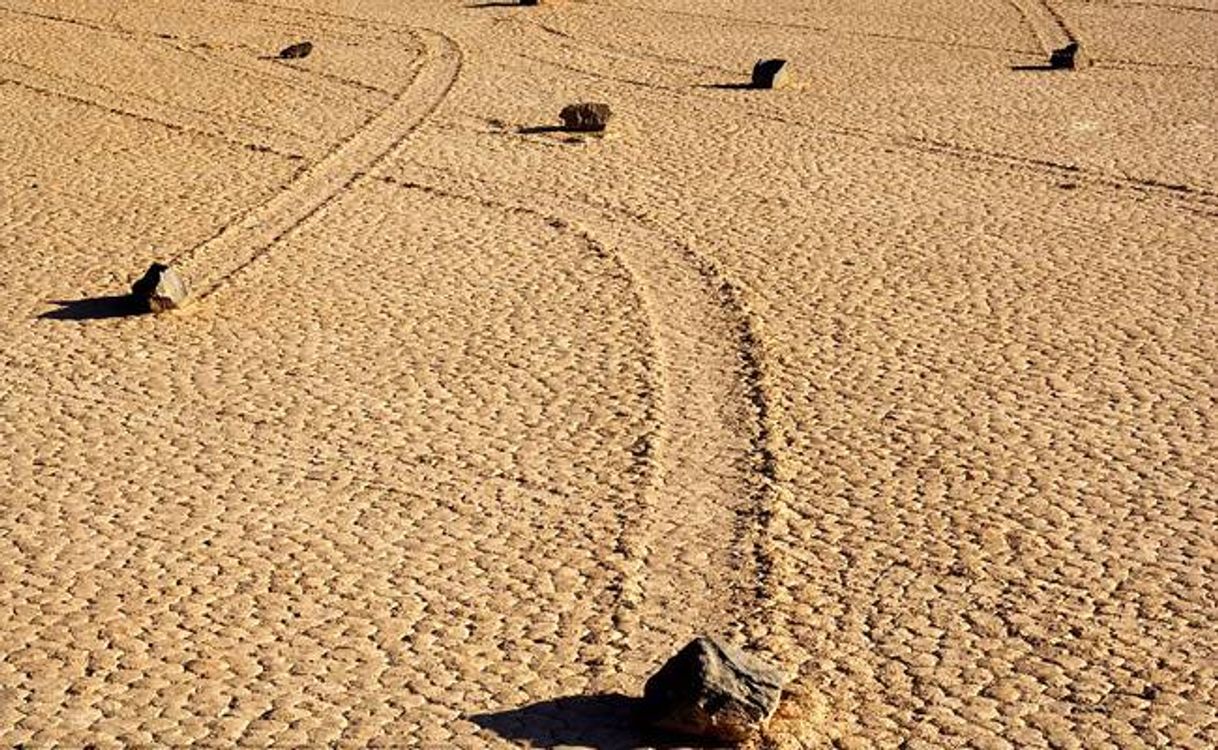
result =
[{"label": "largest dark angular rock, in the foreground at the track's end", "polygon": [[647,681],[643,720],[667,732],[739,743],[778,709],[786,676],[713,638],[694,638]]}]

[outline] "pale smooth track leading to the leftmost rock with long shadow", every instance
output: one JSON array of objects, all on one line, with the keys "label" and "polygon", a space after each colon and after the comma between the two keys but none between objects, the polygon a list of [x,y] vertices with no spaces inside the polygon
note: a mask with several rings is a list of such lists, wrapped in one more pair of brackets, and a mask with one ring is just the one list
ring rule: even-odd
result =
[{"label": "pale smooth track leading to the leftmost rock with long shadow", "polygon": [[206,298],[334,201],[358,173],[395,152],[440,106],[460,74],[460,47],[440,32],[412,29],[410,33],[418,37],[424,52],[410,84],[387,107],[315,163],[302,168],[284,190],[169,259],[192,280],[200,297]]}]

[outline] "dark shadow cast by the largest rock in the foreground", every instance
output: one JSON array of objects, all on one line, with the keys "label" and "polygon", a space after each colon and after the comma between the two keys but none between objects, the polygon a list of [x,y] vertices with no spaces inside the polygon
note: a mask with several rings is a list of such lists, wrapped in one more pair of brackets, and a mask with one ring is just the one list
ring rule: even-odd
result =
[{"label": "dark shadow cast by the largest rock in the foreground", "polygon": [[642,700],[616,693],[568,695],[469,720],[509,741],[533,748],[575,745],[594,750],[709,748],[689,738],[649,732],[639,723]]}]

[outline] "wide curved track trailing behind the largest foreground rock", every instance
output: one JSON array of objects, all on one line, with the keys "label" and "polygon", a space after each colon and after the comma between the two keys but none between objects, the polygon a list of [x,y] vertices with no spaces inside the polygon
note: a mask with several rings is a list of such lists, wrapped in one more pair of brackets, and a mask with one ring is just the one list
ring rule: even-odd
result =
[{"label": "wide curved track trailing behind the largest foreground rock", "polygon": [[[369,179],[535,214],[625,268],[654,340],[654,430],[639,458],[653,474],[646,493],[655,497],[631,505],[620,539],[607,550],[620,558],[621,577],[602,612],[610,643],[621,664],[661,656],[674,638],[689,634],[665,632],[689,625],[674,611],[688,609],[695,629],[732,633],[798,665],[803,655],[783,626],[775,588],[783,554],[771,524],[783,497],[764,331],[747,290],[688,241],[596,198],[533,186],[525,206],[515,197],[519,186],[425,164]],[[637,653],[626,655],[626,648]]]}]

